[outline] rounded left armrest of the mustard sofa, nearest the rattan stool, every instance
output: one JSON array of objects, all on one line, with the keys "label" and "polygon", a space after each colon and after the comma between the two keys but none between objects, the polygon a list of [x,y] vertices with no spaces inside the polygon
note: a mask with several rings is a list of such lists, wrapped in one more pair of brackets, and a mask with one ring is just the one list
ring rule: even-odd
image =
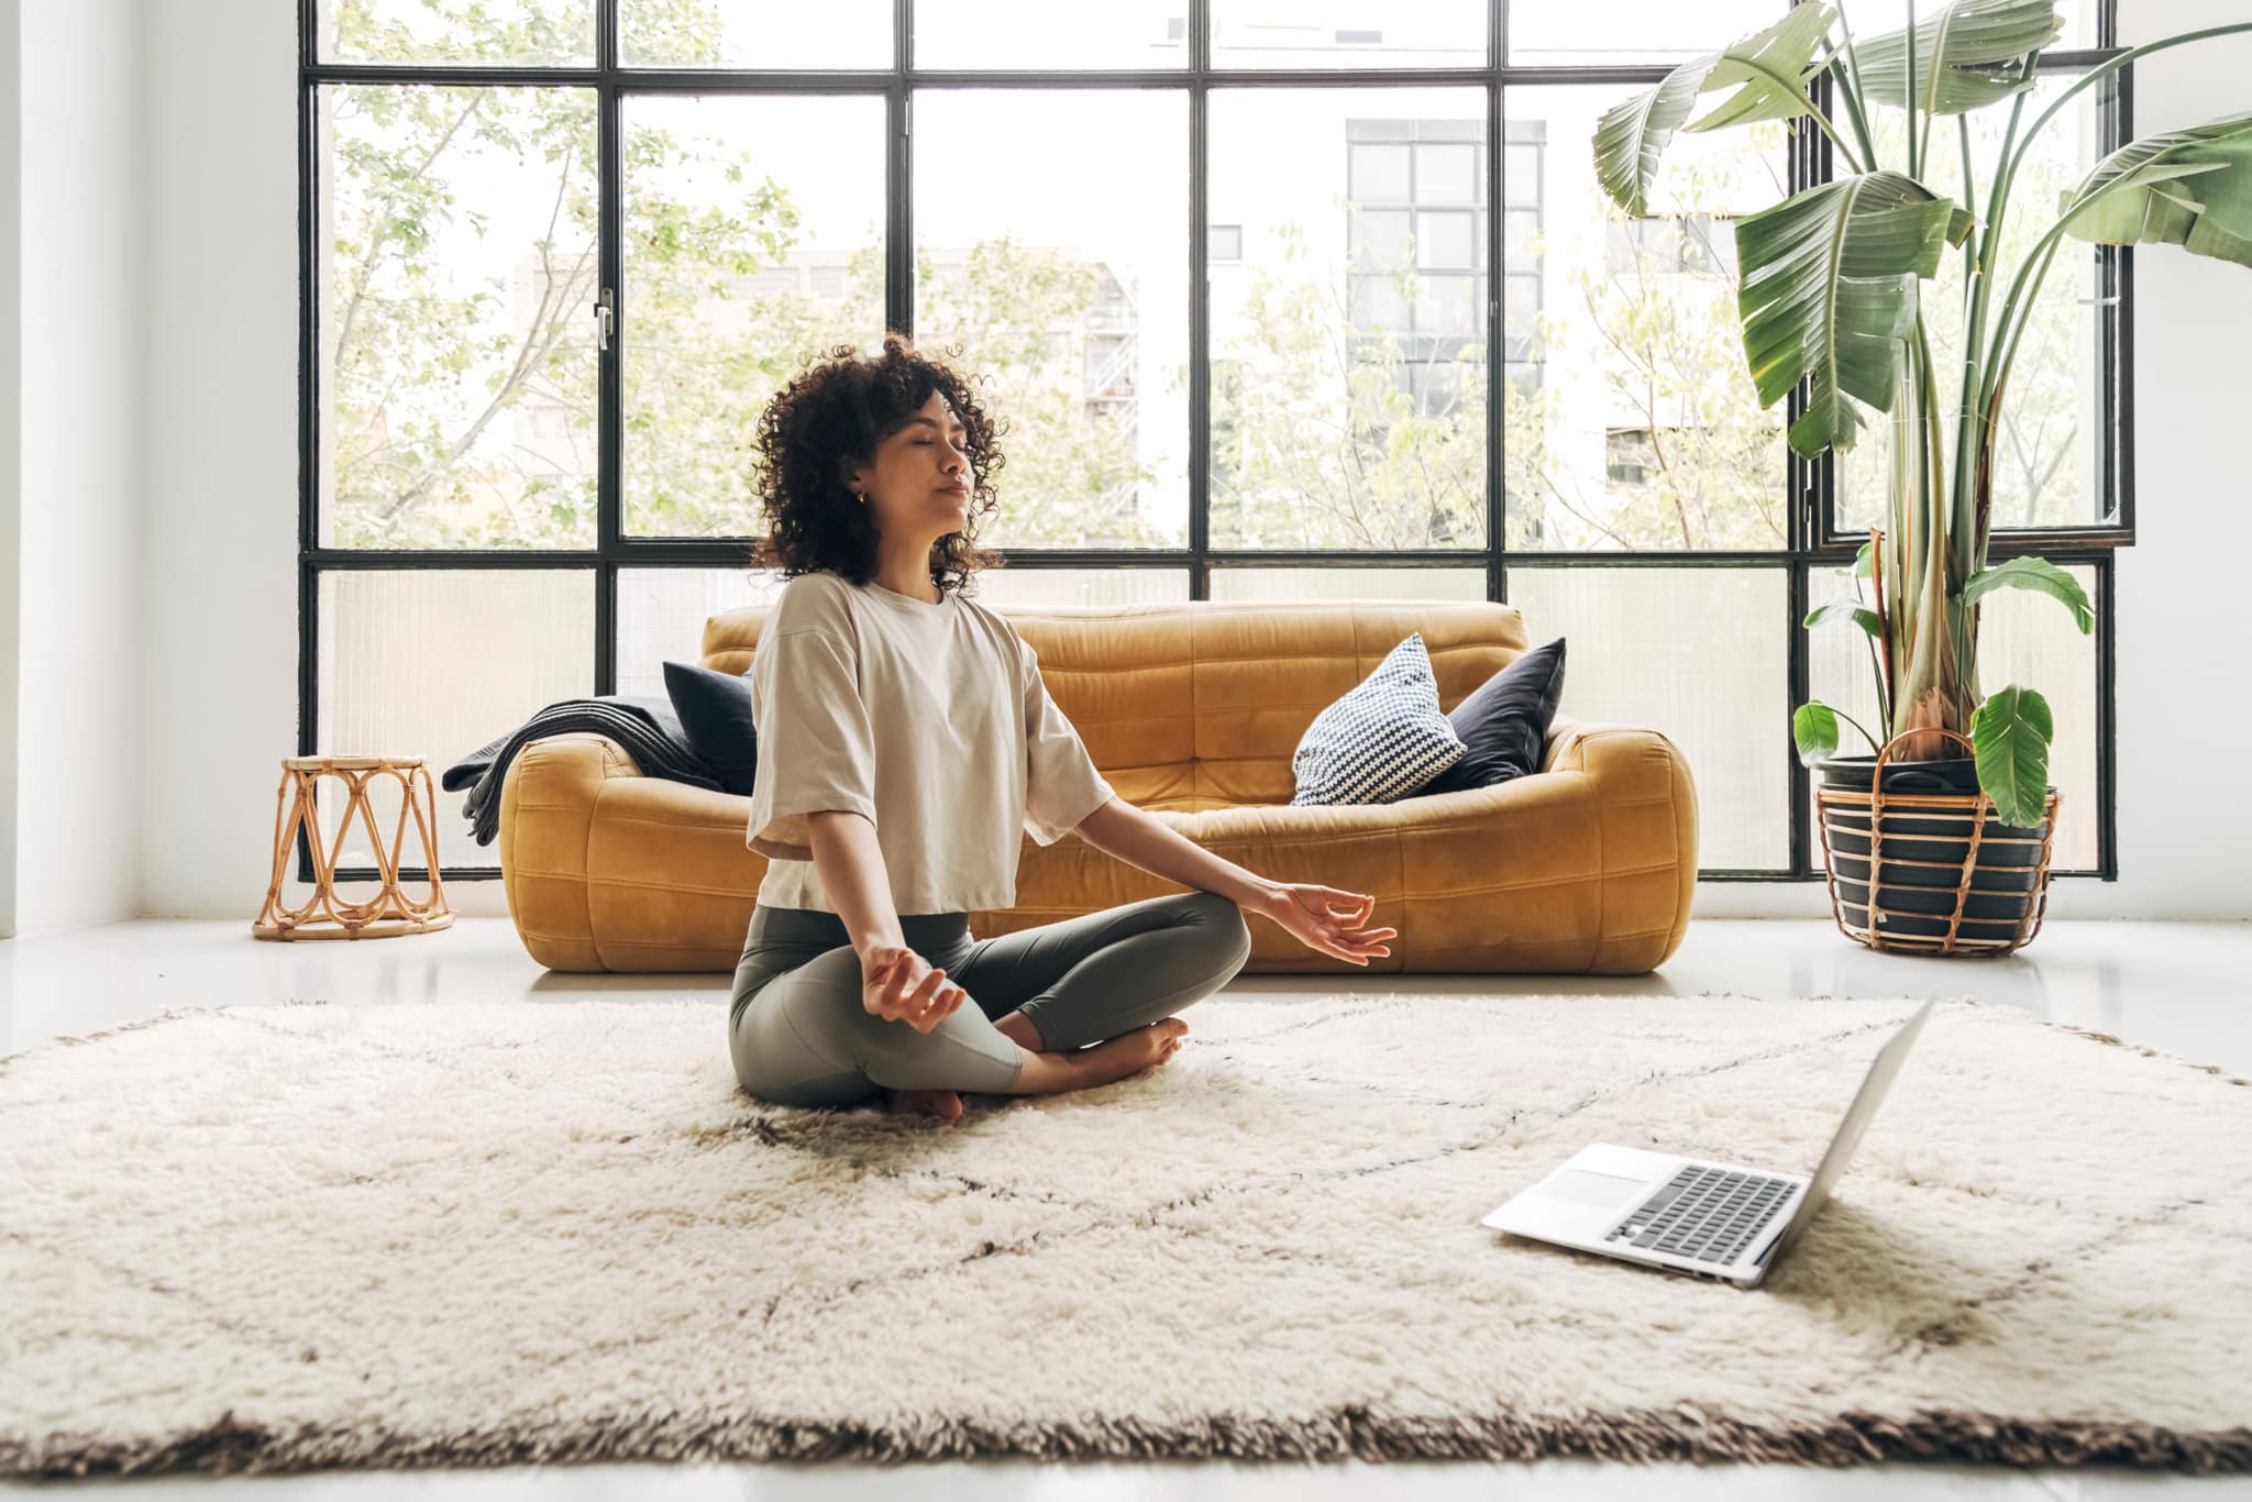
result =
[{"label": "rounded left armrest of the mustard sofa, nearest the rattan stool", "polygon": [[516,752],[500,784],[500,883],[516,935],[549,971],[601,971],[588,910],[588,833],[604,786],[642,777],[626,748],[579,730]]}]

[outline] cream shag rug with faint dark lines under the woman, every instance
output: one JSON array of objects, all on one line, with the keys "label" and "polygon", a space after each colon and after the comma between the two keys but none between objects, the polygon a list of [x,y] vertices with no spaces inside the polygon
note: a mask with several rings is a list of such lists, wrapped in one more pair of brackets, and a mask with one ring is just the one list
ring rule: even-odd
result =
[{"label": "cream shag rug with faint dark lines under the woman", "polygon": [[1912,1002],[1214,998],[959,1126],[725,1002],[173,1011],[0,1061],[0,1473],[595,1459],[2252,1468],[2245,1081],[1946,1002],[1761,1290],[1477,1218],[1813,1169]]}]

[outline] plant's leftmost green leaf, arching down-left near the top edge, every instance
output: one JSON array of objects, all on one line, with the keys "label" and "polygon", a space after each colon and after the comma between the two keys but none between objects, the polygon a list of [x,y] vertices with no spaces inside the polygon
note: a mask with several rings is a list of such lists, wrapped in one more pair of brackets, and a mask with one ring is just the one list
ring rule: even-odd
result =
[{"label": "plant's leftmost green leaf, arching down-left near the top edge", "polygon": [[[1610,200],[1628,214],[1651,212],[1657,158],[1703,92],[1743,86],[1691,131],[1811,113],[1815,106],[1806,97],[1806,83],[1822,72],[1811,61],[1835,18],[1829,5],[1797,5],[1772,27],[1691,59],[1660,79],[1657,88],[1603,110],[1594,124],[1594,176]],[[1795,79],[1797,88],[1786,90],[1777,74]],[[1730,117],[1716,122],[1718,115]]]}]

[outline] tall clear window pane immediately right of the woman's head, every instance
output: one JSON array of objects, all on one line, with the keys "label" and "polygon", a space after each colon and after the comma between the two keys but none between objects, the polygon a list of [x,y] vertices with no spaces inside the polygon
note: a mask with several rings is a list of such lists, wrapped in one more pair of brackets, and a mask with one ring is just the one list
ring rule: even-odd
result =
[{"label": "tall clear window pane immediately right of the woman's head", "polygon": [[921,90],[914,140],[919,342],[1009,419],[977,540],[1187,545],[1187,95]]}]

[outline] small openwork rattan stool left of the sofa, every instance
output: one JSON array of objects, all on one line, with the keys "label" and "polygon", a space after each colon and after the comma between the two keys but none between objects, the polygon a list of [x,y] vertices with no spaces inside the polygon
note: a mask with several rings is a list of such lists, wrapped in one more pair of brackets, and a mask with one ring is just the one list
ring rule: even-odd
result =
[{"label": "small openwork rattan stool left of the sofa", "polygon": [[[322,775],[340,777],[351,790],[345,802],[345,817],[336,826],[336,844],[345,847],[351,833],[351,815],[360,815],[369,842],[376,847],[376,869],[383,871],[383,889],[365,903],[347,903],[336,894],[336,851],[320,847],[320,820],[313,808],[313,788]],[[374,804],[367,802],[367,781],[378,775],[399,779],[399,829],[392,831],[390,849],[383,847],[383,831],[376,829]],[[295,802],[291,790],[295,788]],[[446,887],[437,876],[437,795],[430,788],[430,772],[421,757],[288,757],[282,761],[282,788],[275,793],[275,874],[266,887],[266,905],[250,923],[259,939],[392,939],[396,935],[423,935],[453,926],[453,908],[446,903]],[[399,887],[399,853],[414,815],[414,831],[421,835],[423,865],[430,871],[430,896],[421,903],[408,901]],[[297,829],[304,829],[313,844],[313,894],[302,908],[282,905],[282,878],[288,871],[291,851],[297,847]]]}]

